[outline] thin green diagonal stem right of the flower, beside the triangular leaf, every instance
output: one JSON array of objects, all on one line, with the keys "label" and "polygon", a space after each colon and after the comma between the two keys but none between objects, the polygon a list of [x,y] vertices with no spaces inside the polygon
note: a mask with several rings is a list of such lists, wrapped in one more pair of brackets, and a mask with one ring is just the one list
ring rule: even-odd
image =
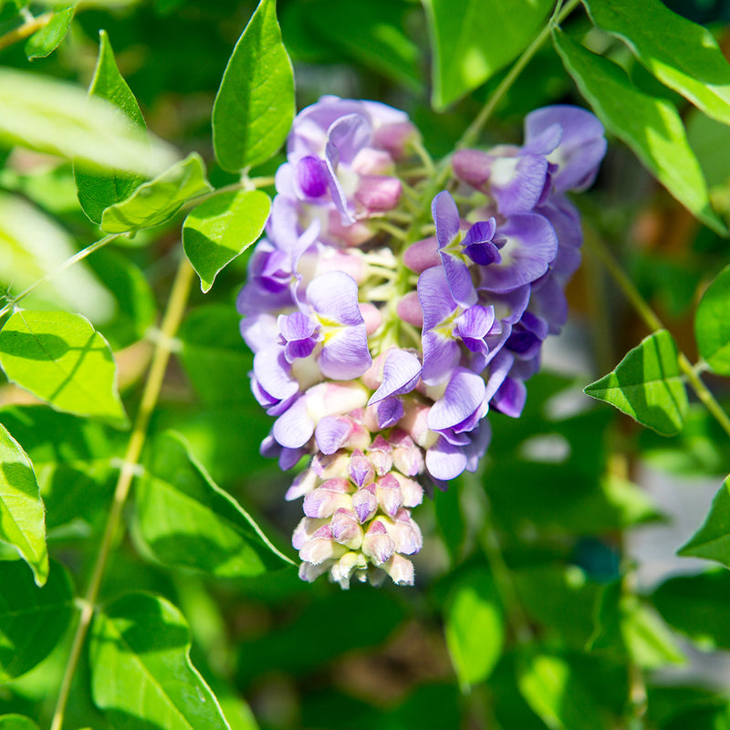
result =
[{"label": "thin green diagonal stem right of the flower, beside the triangular leaf", "polygon": [[[631,278],[626,272],[620,267],[616,259],[611,255],[608,247],[601,240],[600,235],[597,235],[595,231],[591,231],[589,228],[586,230],[586,243],[589,246],[591,253],[596,255],[603,266],[606,267],[610,276],[616,282],[624,296],[631,303],[631,307],[636,310],[636,313],[643,319],[644,323],[652,331],[657,329],[666,329],[662,324],[662,320],[657,317],[654,310],[649,306],[646,300],[641,297],[639,289],[631,281]],[[700,376],[697,374],[697,370],[694,368],[692,362],[687,358],[683,352],[679,352],[677,356],[680,370],[683,371],[687,377],[687,381],[692,386],[692,389],[697,394],[697,397],[703,403],[704,407],[712,413],[715,420],[723,427],[725,433],[730,436],[730,416],[727,415],[723,407],[718,403],[712,392],[704,384]]]}]

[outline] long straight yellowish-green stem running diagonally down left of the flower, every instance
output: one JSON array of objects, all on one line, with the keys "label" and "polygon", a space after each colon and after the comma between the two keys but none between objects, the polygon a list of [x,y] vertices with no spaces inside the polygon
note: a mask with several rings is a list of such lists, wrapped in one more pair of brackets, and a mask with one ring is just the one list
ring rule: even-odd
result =
[{"label": "long straight yellowish-green stem running diagonally down left of the flower", "polygon": [[164,380],[167,363],[170,360],[170,354],[172,352],[172,338],[174,338],[183,320],[183,313],[193,283],[193,275],[193,267],[190,266],[186,258],[183,258],[180,266],[178,266],[177,274],[172,284],[170,299],[168,300],[167,308],[162,318],[161,337],[156,339],[155,349],[152,353],[151,366],[147,376],[147,382],[144,385],[144,391],[142,392],[140,409],[137,412],[130,441],[127,445],[127,452],[124,455],[124,461],[120,468],[119,479],[114,490],[114,499],[111,503],[107,524],[104,528],[104,534],[101,537],[101,544],[99,545],[99,554],[94,563],[91,579],[89,580],[89,588],[86,590],[84,598],[79,604],[81,614],[78,619],[78,625],[71,644],[71,651],[68,655],[68,662],[58,691],[56,709],[53,714],[50,730],[61,730],[61,726],[63,725],[63,715],[66,711],[71,683],[73,683],[78,659],[81,655],[81,650],[83,649],[84,641],[89,631],[89,625],[94,615],[96,601],[99,597],[99,588],[104,577],[104,569],[107,567],[111,545],[120,526],[122,508],[130,493],[130,485],[147,436],[151,414],[160,396],[162,381]]}]

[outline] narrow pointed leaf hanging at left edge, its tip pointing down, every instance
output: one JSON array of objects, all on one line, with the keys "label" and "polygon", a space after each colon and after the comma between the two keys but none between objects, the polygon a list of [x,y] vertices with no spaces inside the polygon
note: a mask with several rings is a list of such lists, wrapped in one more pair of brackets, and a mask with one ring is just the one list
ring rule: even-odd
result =
[{"label": "narrow pointed leaf hanging at left edge, its tip pointing down", "polygon": [[36,585],[48,577],[43,500],[26,452],[0,425],[0,539],[16,548]]}]

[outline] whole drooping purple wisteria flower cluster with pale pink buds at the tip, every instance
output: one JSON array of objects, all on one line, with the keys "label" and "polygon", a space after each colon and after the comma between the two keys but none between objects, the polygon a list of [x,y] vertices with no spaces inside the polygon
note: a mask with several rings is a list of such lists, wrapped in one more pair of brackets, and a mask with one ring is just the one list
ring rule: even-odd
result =
[{"label": "whole drooping purple wisteria flower cluster with pale pink buds at the tip", "polygon": [[455,152],[421,201],[438,173],[405,113],[323,97],[298,114],[238,309],[276,417],[262,453],[311,457],[286,495],[304,497],[301,578],[412,584],[422,485],[476,470],[487,412],[520,415],[565,324],[582,241],[565,193],[605,150],[588,111],[536,110],[522,147]]}]

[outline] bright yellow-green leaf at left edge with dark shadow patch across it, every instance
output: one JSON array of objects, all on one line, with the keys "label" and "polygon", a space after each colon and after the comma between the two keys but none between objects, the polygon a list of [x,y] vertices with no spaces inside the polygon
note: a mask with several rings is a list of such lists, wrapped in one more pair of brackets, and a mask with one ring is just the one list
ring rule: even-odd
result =
[{"label": "bright yellow-green leaf at left edge with dark shadow patch across it", "polygon": [[16,312],[0,330],[0,365],[57,411],[127,423],[110,347],[81,315]]}]

